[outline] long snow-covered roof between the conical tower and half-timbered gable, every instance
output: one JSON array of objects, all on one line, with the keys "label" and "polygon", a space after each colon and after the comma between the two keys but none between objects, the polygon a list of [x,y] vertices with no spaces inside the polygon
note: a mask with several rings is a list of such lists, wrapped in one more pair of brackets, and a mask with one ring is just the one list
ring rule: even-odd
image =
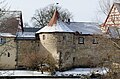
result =
[{"label": "long snow-covered roof between the conical tower and half-timbered gable", "polygon": [[70,22],[67,26],[74,32],[78,31],[82,34],[102,34],[102,31],[97,23],[93,22]]}]

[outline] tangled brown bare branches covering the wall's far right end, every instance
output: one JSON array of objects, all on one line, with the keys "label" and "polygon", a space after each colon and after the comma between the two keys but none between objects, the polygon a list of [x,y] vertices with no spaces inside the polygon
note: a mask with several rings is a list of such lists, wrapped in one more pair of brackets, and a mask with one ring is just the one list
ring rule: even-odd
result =
[{"label": "tangled brown bare branches covering the wall's far right end", "polygon": [[[103,74],[101,79],[119,79],[120,74],[120,43],[114,38],[106,38],[106,36],[98,37],[102,42],[93,53],[95,61],[99,61],[97,67],[101,70],[104,68],[107,74]],[[102,50],[101,50],[102,48]],[[107,51],[106,51],[107,50]],[[95,53],[101,51],[99,54]],[[96,58],[97,57],[97,58]],[[95,62],[94,61],[94,62]]]}]

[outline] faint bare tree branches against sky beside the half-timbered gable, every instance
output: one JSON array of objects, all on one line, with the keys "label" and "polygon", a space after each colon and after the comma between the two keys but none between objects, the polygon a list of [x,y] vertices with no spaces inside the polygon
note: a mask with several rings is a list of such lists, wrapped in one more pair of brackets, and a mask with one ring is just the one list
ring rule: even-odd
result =
[{"label": "faint bare tree branches against sky beside the half-timbered gable", "polygon": [[118,2],[120,2],[120,0],[99,0],[99,7],[97,8],[95,19],[93,21],[103,23],[105,19],[104,17],[106,17],[110,12],[110,8],[112,7],[113,3]]}]

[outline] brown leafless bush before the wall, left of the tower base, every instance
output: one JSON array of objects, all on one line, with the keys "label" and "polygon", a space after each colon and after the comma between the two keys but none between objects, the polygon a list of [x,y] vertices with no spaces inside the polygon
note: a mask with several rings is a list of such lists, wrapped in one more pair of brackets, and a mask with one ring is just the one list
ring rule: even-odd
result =
[{"label": "brown leafless bush before the wall, left of the tower base", "polygon": [[52,72],[54,62],[49,55],[39,52],[25,53],[23,57],[23,65],[32,70],[40,70]]}]

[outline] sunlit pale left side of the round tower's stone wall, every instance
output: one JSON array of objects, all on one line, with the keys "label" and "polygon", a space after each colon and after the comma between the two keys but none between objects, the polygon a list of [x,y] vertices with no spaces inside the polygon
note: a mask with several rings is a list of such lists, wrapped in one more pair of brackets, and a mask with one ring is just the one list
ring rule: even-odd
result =
[{"label": "sunlit pale left side of the round tower's stone wall", "polygon": [[50,54],[58,67],[59,54],[57,53],[57,36],[53,33],[39,34],[40,37],[40,52]]}]

